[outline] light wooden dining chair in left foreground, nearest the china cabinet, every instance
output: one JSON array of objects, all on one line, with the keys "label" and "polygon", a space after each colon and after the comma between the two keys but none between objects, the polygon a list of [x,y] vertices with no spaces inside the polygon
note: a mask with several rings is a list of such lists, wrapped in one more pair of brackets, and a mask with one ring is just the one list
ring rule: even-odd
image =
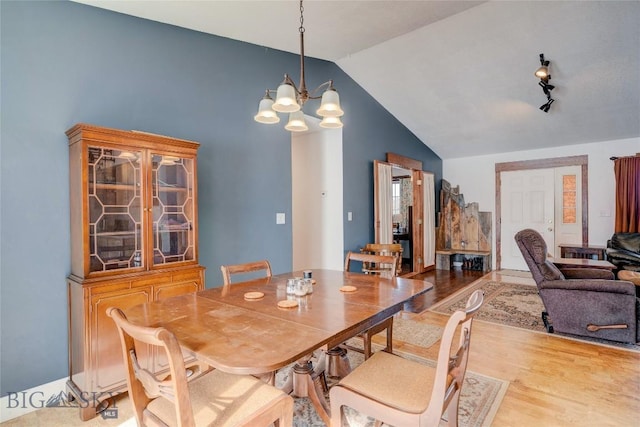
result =
[{"label": "light wooden dining chair in left foreground, nearest the china cabinet", "polygon": [[[291,426],[293,399],[250,375],[213,369],[187,381],[175,335],[165,328],[130,323],[122,310],[108,308],[118,329],[127,370],[129,398],[139,426]],[[168,377],[159,379],[139,358],[144,346],[166,354]]]}]

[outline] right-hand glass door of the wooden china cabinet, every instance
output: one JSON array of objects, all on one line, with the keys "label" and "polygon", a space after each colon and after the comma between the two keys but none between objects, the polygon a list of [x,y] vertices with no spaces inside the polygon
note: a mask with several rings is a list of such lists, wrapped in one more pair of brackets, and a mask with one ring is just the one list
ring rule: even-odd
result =
[{"label": "right-hand glass door of the wooden china cabinet", "polygon": [[195,260],[194,159],[151,155],[153,264]]}]

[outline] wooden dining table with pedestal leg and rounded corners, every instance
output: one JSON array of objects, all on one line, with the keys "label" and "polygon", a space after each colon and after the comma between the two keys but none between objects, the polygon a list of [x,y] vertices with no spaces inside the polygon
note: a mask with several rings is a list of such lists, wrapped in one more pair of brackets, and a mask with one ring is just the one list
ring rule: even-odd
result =
[{"label": "wooden dining table with pedestal leg and rounded corners", "polygon": [[[313,293],[302,297],[286,293],[287,279],[303,275],[295,271],[137,305],[126,315],[138,325],[167,328],[184,350],[225,372],[265,374],[296,362],[290,391],[309,397],[328,425],[329,406],[310,362],[313,352],[361,334],[433,285],[334,270],[312,274]],[[345,286],[355,290],[345,292]],[[264,296],[246,298],[256,292]],[[281,308],[283,300],[297,306]]]}]

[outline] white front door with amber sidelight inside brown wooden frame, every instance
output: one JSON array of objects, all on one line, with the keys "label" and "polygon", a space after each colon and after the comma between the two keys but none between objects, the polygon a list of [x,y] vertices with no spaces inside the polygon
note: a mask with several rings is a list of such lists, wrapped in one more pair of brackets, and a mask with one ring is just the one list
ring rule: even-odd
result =
[{"label": "white front door with amber sidelight inside brown wooden frame", "polygon": [[588,243],[587,156],[496,164],[496,268],[527,270],[513,236],[532,228],[552,256]]}]

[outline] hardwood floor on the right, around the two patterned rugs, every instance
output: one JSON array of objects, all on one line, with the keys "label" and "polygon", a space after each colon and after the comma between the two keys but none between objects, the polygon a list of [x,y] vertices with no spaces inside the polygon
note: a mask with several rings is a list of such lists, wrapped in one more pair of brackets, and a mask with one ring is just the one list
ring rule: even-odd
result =
[{"label": "hardwood floor on the right, around the two patterned rugs", "polygon": [[[464,276],[442,282],[434,272],[433,299],[464,287]],[[492,272],[484,279],[533,283]],[[446,283],[441,288],[441,283]],[[403,316],[442,325],[447,316]],[[424,349],[394,348],[435,359],[439,342]],[[510,382],[492,426],[640,426],[640,353],[475,321],[468,369]]]}]

